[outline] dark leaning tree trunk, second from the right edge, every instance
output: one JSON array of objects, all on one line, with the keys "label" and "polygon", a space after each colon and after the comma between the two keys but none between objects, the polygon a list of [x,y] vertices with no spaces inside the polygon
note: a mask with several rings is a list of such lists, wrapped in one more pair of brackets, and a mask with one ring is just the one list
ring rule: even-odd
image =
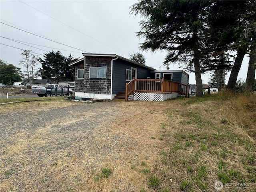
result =
[{"label": "dark leaning tree trunk, second from the right edge", "polygon": [[229,89],[229,90],[234,90],[236,88],[237,76],[240,71],[242,61],[244,59],[245,54],[246,54],[246,48],[238,49],[236,60],[234,62],[234,65],[233,65],[231,73],[230,73],[230,77],[228,79],[227,89]]}]

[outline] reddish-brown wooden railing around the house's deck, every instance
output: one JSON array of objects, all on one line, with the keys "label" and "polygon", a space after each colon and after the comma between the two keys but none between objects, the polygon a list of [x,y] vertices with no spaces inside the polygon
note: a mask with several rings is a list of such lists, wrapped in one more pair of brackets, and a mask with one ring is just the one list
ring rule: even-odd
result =
[{"label": "reddish-brown wooden railing around the house's deck", "polygon": [[125,100],[128,101],[128,96],[133,92],[181,92],[188,95],[188,85],[162,79],[133,79],[126,83]]}]

